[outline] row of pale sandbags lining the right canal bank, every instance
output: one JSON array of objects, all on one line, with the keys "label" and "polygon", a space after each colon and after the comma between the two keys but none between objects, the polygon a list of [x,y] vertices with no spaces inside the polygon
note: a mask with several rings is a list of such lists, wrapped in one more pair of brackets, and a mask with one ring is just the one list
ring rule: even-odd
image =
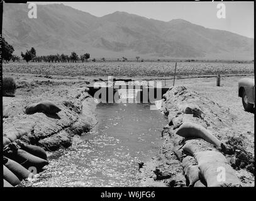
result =
[{"label": "row of pale sandbags lining the right canal bank", "polygon": [[[211,132],[196,123],[189,121],[186,114],[191,109],[184,109],[179,114],[181,124],[175,126],[175,118],[169,125],[175,134],[184,138],[183,144],[174,148],[174,153],[182,161],[184,175],[189,187],[240,187],[236,171],[231,168],[225,156],[218,149],[225,149]],[[176,118],[178,117],[176,116]],[[192,118],[199,118],[192,116]]]}]

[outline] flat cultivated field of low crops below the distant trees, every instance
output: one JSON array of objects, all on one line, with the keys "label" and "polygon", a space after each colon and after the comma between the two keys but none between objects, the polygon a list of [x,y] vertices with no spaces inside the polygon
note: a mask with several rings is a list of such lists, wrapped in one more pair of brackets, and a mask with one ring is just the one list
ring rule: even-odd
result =
[{"label": "flat cultivated field of low crops below the distant trees", "polygon": [[[254,73],[253,63],[177,63],[178,76]],[[174,74],[173,62],[4,63],[3,72],[64,76],[154,76]]]}]

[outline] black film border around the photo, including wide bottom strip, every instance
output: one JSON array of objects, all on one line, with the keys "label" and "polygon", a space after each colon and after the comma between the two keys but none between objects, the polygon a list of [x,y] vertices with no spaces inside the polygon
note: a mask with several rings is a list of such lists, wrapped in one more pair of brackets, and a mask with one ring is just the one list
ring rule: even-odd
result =
[{"label": "black film border around the photo, including wide bottom strip", "polygon": [[[33,1],[33,0],[31,0]],[[79,0],[76,0],[79,2]],[[80,0],[81,1],[81,0]],[[113,0],[115,1],[115,0]],[[113,1],[97,1],[97,2],[113,2]],[[151,0],[149,0],[151,1]],[[166,1],[166,0],[162,0]],[[183,0],[184,1],[184,0]],[[186,1],[186,0],[185,0]],[[205,0],[203,0],[205,1]],[[208,0],[211,2],[211,0]],[[230,0],[233,1],[233,0]],[[26,3],[27,1],[23,0],[6,0],[5,3]],[[57,1],[36,1],[33,2],[58,2]],[[72,2],[72,1],[60,1],[60,2]],[[91,1],[94,2],[94,1]],[[95,1],[96,2],[96,1]],[[135,2],[135,1],[126,1],[126,2]],[[177,1],[176,1],[177,2]],[[200,2],[200,1],[194,1]],[[216,2],[216,1],[214,1]],[[218,1],[221,2],[221,1]],[[255,1],[254,2],[254,19],[255,19]],[[225,1],[223,1],[225,3]],[[3,1],[0,1],[0,34],[2,36],[2,28],[3,28]],[[0,41],[1,42],[1,41]],[[255,62],[255,20],[254,20],[254,62]],[[0,58],[0,73],[1,73],[1,86],[3,80],[3,60]],[[255,63],[254,63],[255,69]],[[255,70],[254,70],[255,76]],[[1,87],[1,93],[3,94],[3,89]],[[3,96],[1,95],[0,104],[3,106]],[[1,141],[3,142],[3,109],[1,111]],[[254,117],[255,118],[255,117]],[[255,138],[255,128],[254,128],[254,138]],[[1,148],[1,157],[3,157],[3,148]],[[254,149],[255,152],[255,149]],[[255,152],[256,153],[256,152]],[[255,154],[254,154],[255,156]],[[8,195],[8,197],[13,198],[17,196],[17,198],[67,198],[66,196],[70,195],[72,198],[79,198],[78,195],[81,195],[83,200],[112,200],[111,198],[101,198],[101,193],[108,191],[108,192],[128,192],[128,191],[150,191],[155,192],[154,198],[128,198],[122,197],[120,200],[159,200],[159,198],[163,198],[165,200],[175,199],[175,195],[179,196],[179,199],[198,199],[202,197],[204,200],[208,198],[216,198],[216,199],[223,199],[223,195],[226,195],[228,198],[232,198],[233,196],[238,198],[237,195],[241,195],[243,198],[248,197],[248,193],[252,193],[256,187],[242,187],[242,188],[168,188],[168,187],[26,187],[26,188],[3,188],[3,166],[1,166],[1,197],[3,195]],[[16,193],[12,193],[16,192]],[[33,193],[36,193],[33,195]],[[81,193],[81,194],[80,194]],[[177,193],[177,194],[176,194]],[[202,193],[206,193],[203,195]],[[225,193],[225,194],[224,194]],[[53,196],[54,195],[54,196]],[[247,196],[246,196],[247,195]],[[117,200],[117,199],[115,199]]]}]

